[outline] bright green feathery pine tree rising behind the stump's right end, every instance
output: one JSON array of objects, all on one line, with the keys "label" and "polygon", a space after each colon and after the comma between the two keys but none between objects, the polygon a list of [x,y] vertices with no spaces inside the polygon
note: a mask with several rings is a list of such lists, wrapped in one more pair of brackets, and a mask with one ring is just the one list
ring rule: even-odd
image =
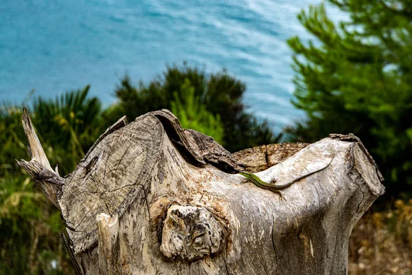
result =
[{"label": "bright green feathery pine tree rising behind the stump's right end", "polygon": [[293,104],[306,122],[286,129],[289,140],[313,142],[328,133],[354,133],[387,180],[387,194],[412,195],[411,2],[330,0],[350,13],[336,25],[323,5],[298,18],[317,41],[298,37]]}]

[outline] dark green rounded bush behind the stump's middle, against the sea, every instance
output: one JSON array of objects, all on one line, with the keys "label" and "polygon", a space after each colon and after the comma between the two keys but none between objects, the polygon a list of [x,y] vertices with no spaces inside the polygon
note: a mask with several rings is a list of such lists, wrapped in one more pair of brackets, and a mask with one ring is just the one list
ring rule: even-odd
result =
[{"label": "dark green rounded bush behind the stump's middle, against the sea", "polygon": [[196,68],[167,67],[166,72],[148,85],[140,82],[138,87],[131,84],[125,76],[115,90],[117,106],[113,109],[112,122],[126,114],[129,120],[149,111],[172,109],[172,102],[177,97],[183,98],[185,81],[190,81],[194,97],[200,100],[205,110],[220,116],[224,128],[222,143],[229,151],[261,144],[275,143],[280,135],[275,136],[266,121],[259,121],[244,111],[242,96],[246,86],[236,78],[222,71],[207,75]]}]

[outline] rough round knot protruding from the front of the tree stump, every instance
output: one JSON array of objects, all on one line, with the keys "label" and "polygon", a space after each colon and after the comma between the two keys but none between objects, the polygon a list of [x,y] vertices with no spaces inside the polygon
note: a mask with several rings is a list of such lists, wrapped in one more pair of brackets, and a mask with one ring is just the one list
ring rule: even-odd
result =
[{"label": "rough round knot protruding from the front of the tree stump", "polygon": [[211,212],[202,207],[170,206],[160,246],[166,257],[194,261],[220,252],[224,245],[223,227]]}]

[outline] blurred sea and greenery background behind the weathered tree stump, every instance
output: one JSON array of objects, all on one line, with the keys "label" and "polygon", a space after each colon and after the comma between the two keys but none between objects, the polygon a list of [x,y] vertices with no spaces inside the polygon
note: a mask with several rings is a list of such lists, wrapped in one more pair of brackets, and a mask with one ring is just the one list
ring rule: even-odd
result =
[{"label": "blurred sea and greenery background behind the weathered tree stump", "polygon": [[70,173],[105,129],[170,109],[236,152],[354,133],[386,193],[349,274],[412,274],[412,1],[0,3],[0,274],[74,274],[60,213],[16,165],[23,106]]}]

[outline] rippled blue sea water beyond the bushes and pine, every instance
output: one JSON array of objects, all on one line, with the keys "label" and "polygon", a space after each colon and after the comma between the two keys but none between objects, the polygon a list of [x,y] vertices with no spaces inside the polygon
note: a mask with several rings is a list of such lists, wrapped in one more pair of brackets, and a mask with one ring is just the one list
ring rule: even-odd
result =
[{"label": "rippled blue sea water beyond the bushes and pine", "polygon": [[[1,0],[0,100],[22,102],[91,85],[105,104],[126,72],[150,81],[165,65],[229,74],[244,102],[275,129],[302,118],[290,36],[310,36],[296,16],[319,0]],[[339,16],[335,12],[334,16]]]}]

